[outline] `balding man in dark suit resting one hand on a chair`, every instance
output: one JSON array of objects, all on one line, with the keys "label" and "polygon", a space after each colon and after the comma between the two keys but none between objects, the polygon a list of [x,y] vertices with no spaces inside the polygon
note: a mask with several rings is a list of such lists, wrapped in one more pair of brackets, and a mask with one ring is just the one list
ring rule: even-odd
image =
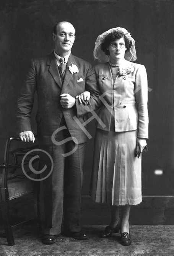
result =
[{"label": "balding man in dark suit resting one hand on a chair", "polygon": [[[87,238],[80,226],[80,198],[88,137],[74,117],[83,124],[88,119],[89,108],[98,108],[100,95],[91,65],[71,53],[75,40],[73,25],[57,23],[52,38],[54,52],[31,60],[18,99],[17,113],[21,141],[34,142],[30,113],[37,90],[39,147],[48,152],[54,162],[52,173],[43,181],[44,244],[55,243],[62,222],[66,236],[80,240]],[[91,96],[84,95],[83,104],[80,104],[75,97],[84,91],[89,91]],[[44,154],[40,156],[40,164],[52,168]]]}]

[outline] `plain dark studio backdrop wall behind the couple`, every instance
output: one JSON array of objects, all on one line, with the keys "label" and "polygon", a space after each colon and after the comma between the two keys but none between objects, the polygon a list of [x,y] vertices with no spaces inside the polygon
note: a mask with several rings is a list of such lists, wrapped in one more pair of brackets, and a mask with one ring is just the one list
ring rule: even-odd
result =
[{"label": "plain dark studio backdrop wall behind the couple", "polygon": [[[5,141],[17,135],[16,101],[31,58],[54,50],[59,21],[76,28],[72,53],[93,65],[98,35],[123,27],[135,39],[136,63],[148,75],[149,151],[142,158],[144,196],[174,195],[174,1],[173,0],[0,0],[0,160]],[[36,106],[32,112],[36,132]],[[88,195],[95,120],[89,123],[83,195]],[[162,173],[161,175],[157,174]],[[166,197],[167,200],[167,197]],[[173,201],[172,201],[173,202]]]}]

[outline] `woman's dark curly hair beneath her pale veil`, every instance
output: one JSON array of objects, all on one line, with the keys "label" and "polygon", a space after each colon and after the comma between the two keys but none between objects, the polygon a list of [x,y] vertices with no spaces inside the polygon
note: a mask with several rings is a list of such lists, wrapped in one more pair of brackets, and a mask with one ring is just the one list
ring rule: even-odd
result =
[{"label": "woman's dark curly hair beneath her pale veil", "polygon": [[109,48],[109,45],[115,41],[115,39],[120,39],[120,38],[124,38],[124,42],[125,42],[125,47],[127,48],[125,52],[129,52],[130,48],[132,46],[132,41],[128,40],[127,37],[125,37],[124,34],[120,33],[120,32],[112,32],[109,35],[107,35],[104,38],[104,41],[101,43],[101,50],[106,54],[106,55],[110,55],[109,54],[109,50],[107,50],[107,48]]}]

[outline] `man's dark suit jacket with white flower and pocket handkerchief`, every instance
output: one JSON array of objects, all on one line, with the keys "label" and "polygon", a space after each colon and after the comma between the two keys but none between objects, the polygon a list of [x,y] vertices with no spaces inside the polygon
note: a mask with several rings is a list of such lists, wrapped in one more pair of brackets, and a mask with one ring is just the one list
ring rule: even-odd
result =
[{"label": "man's dark suit jacket with white flower and pocket handkerchief", "polygon": [[[77,66],[78,73],[72,74],[70,72],[68,67],[72,63]],[[83,81],[78,82],[80,78]],[[35,90],[37,90],[38,97],[37,136],[42,143],[51,142],[52,133],[59,128],[62,115],[65,118],[70,135],[75,137],[78,143],[84,143],[88,140],[88,137],[73,117],[77,116],[80,122],[83,123],[88,119],[87,113],[91,108],[83,105],[83,103],[80,104],[78,100],[76,100],[76,106],[70,109],[62,108],[60,95],[69,93],[75,97],[83,91],[89,91],[91,93],[89,105],[92,109],[98,108],[100,92],[96,75],[90,63],[70,54],[62,83],[54,53],[32,59],[18,98],[19,132],[32,130],[30,114],[33,108]]]}]

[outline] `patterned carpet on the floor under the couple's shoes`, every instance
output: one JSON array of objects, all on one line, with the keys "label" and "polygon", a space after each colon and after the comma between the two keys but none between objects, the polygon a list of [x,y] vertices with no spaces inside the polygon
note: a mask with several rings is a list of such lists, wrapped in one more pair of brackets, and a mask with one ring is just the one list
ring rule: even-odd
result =
[{"label": "patterned carpet on the floor under the couple's shoes", "polygon": [[42,244],[34,226],[14,231],[15,245],[0,238],[0,256],[174,256],[174,226],[130,226],[132,245],[122,246],[119,234],[98,238],[104,226],[83,226],[88,239],[78,241],[59,236],[56,243]]}]

